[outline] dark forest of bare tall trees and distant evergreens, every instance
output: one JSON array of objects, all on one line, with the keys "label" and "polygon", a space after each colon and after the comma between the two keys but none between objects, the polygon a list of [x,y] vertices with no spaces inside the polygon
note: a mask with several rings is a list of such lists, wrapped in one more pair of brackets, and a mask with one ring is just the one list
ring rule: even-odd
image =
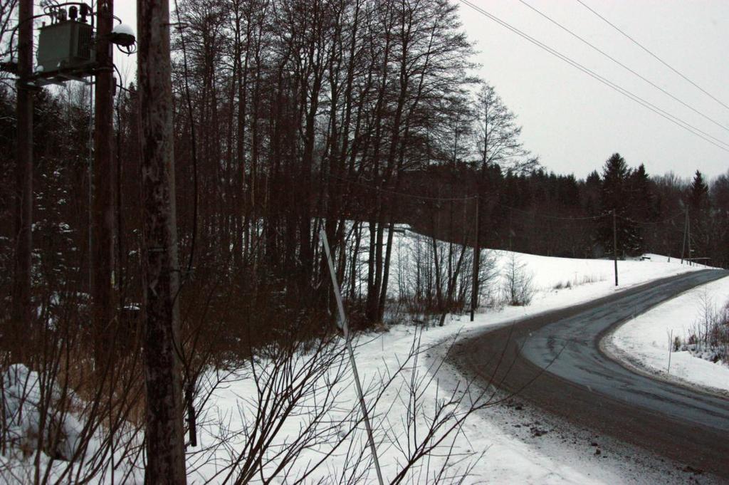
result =
[{"label": "dark forest of bare tall trees and distant evergreens", "polygon": [[[585,179],[550,172],[548,160],[524,146],[518,114],[473,74],[473,46],[451,1],[179,0],[170,26],[186,403],[211,362],[225,366],[272,341],[332,333],[322,325],[335,319],[335,300],[321,233],[359,329],[387,319],[393,235],[402,227],[432,238],[436,267],[441,258],[443,268],[429,274],[434,282],[418,279],[413,290],[437,314],[488,300],[472,298],[471,262],[456,244],[729,265],[729,172],[713,180],[698,170],[690,180],[650,174],[620,147],[596,154],[604,167]],[[98,284],[92,92],[74,82],[43,88],[34,92],[31,299],[34,319],[56,326],[15,345],[61,362],[63,352],[113,334],[104,349],[129,369],[114,385],[140,393],[124,382],[136,382],[139,371],[125,359],[139,353],[144,292],[139,87],[133,77],[117,82],[112,319],[98,324],[89,301]],[[3,79],[4,322],[12,321],[19,199],[15,98]],[[61,328],[74,335],[68,347],[44,353],[47,333]],[[79,375],[109,365],[98,346],[88,355]]]}]

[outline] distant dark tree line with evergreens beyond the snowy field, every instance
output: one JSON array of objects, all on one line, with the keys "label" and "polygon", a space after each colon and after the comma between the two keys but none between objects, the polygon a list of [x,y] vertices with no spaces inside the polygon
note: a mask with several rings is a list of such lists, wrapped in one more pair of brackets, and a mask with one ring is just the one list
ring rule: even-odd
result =
[{"label": "distant dark tree line with evergreens beyond the snowy field", "polygon": [[[692,179],[672,172],[650,176],[644,164],[631,168],[619,153],[585,179],[543,168],[515,174],[496,165],[484,171],[467,163],[456,177],[450,171],[431,166],[413,174],[412,189],[428,186],[429,193],[443,192],[433,187],[459,180],[457,193],[478,191],[486,219],[480,240],[486,247],[588,258],[612,257],[617,249],[620,258],[653,252],[702,258],[702,263],[722,268],[729,264],[729,174],[713,181],[698,170]],[[431,231],[422,220],[410,217],[409,222]],[[447,228],[440,228],[440,237],[449,237]]]}]

